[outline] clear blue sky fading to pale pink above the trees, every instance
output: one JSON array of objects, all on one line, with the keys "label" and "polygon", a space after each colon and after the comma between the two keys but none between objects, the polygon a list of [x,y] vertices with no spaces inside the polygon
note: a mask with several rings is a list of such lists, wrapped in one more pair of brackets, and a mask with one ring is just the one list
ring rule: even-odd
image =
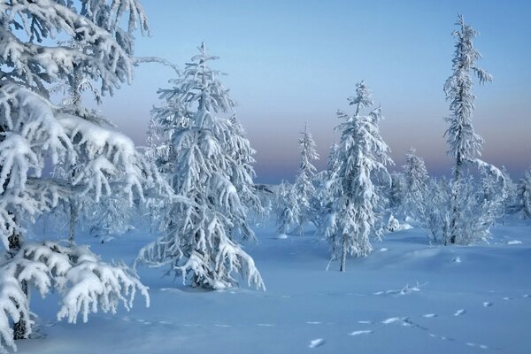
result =
[{"label": "clear blue sky fading to pale pink above the trees", "polygon": [[[338,109],[365,80],[386,119],[381,135],[396,168],[414,146],[428,171],[450,172],[443,132],[443,82],[450,76],[451,36],[458,13],[481,35],[478,65],[494,77],[475,86],[473,125],[485,139],[483,158],[515,177],[531,165],[531,1],[196,0],[142,1],[151,37],[138,34],[135,54],[181,68],[201,42],[220,59],[215,68],[238,103],[237,114],[258,150],[257,181],[292,180],[297,138],[308,125],[325,168],[338,139]],[[135,81],[102,108],[119,130],[143,144],[158,88],[173,72],[137,68]]]}]

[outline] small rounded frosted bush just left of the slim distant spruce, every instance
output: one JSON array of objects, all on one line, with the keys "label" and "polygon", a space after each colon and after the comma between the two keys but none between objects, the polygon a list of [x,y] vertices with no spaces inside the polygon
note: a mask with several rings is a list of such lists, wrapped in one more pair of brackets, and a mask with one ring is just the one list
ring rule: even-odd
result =
[{"label": "small rounded frosted bush just left of the slim distant spruce", "polygon": [[277,234],[288,235],[289,228],[298,225],[300,207],[295,186],[282,181],[275,195],[275,209],[277,213]]}]

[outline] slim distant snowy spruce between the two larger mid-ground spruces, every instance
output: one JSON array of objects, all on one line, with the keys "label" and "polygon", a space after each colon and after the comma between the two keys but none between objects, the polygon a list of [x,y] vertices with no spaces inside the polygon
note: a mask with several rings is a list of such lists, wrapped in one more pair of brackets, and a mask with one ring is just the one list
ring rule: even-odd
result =
[{"label": "slim distant snowy spruce between the two larger mid-ground spruces", "polygon": [[312,205],[311,198],[315,195],[315,187],[313,186],[313,179],[317,169],[312,165],[312,161],[319,159],[315,142],[313,141],[312,133],[308,129],[308,123],[304,124],[304,131],[301,132],[299,138],[299,146],[301,150],[301,163],[299,173],[296,176],[295,190],[298,198],[299,214],[297,220],[298,234],[303,235],[304,222],[312,220]]}]

